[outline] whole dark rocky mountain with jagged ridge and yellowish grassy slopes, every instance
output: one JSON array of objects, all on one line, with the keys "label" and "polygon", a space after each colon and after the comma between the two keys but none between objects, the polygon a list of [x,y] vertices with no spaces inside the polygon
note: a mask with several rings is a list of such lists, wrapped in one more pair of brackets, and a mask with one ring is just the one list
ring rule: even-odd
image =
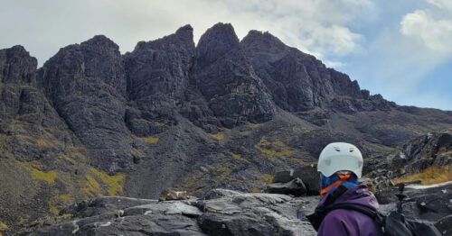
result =
[{"label": "whole dark rocky mountain with jagged ridge and yellowish grassy slopes", "polygon": [[268,32],[240,41],[231,24],[196,46],[186,25],[124,55],[95,36],[36,65],[21,46],[0,50],[5,233],[93,196],[256,192],[328,142],[384,158],[452,126],[451,112],[370,95]]}]

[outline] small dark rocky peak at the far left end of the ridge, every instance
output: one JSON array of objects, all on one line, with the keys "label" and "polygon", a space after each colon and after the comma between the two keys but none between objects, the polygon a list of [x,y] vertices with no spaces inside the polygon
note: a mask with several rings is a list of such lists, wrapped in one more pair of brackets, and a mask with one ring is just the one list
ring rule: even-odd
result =
[{"label": "small dark rocky peak at the far left end of the ridge", "polygon": [[21,45],[0,50],[0,82],[35,84],[38,61]]}]

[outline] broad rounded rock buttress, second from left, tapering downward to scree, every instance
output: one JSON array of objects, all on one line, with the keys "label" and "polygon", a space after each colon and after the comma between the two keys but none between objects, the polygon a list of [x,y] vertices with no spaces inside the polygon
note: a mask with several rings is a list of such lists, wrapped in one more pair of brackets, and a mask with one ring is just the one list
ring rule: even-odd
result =
[{"label": "broad rounded rock buttress, second from left, tapering downward to scree", "polygon": [[[39,71],[57,112],[109,171],[132,160],[124,124],[127,80],[118,45],[96,36],[61,49]],[[110,138],[105,139],[108,136]]]}]

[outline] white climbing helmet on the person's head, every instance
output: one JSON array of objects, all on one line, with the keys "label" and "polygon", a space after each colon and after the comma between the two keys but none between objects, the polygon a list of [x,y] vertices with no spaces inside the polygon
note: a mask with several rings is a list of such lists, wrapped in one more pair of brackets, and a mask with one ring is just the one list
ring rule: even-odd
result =
[{"label": "white climbing helmet on the person's head", "polygon": [[357,177],[362,176],[363,155],[354,145],[346,142],[333,142],[326,145],[318,158],[317,171],[330,177],[337,171],[352,171]]}]

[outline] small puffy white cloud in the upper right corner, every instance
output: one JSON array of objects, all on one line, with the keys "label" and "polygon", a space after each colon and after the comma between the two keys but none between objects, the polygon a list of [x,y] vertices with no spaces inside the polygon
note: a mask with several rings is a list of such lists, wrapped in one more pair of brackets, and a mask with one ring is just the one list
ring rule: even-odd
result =
[{"label": "small puffy white cloud in the upper right corner", "polygon": [[436,20],[427,10],[406,14],[400,22],[400,32],[422,41],[430,50],[452,50],[452,21]]}]

